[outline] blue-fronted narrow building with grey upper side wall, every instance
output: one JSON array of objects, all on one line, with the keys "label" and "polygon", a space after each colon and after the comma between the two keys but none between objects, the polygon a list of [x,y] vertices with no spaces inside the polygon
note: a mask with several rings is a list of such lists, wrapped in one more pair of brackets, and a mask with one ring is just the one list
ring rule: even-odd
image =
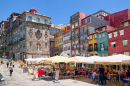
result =
[{"label": "blue-fronted narrow building with grey upper side wall", "polygon": [[[95,51],[88,51],[88,48],[89,48],[88,39],[92,40],[91,34],[95,33],[95,28],[98,28],[104,25],[109,25],[109,22],[103,19],[100,19],[98,17],[95,17],[93,15],[87,16],[86,18],[82,19],[82,26],[80,26],[79,28],[80,54],[82,56],[87,57],[87,56],[92,56],[92,55],[98,55],[98,53],[97,52],[95,53]],[[94,46],[93,44],[91,45]]]}]

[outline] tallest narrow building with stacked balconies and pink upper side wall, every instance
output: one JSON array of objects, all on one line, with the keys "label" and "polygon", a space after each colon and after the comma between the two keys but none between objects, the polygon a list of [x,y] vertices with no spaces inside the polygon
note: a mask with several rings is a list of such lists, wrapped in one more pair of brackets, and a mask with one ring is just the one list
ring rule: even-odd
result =
[{"label": "tallest narrow building with stacked balconies and pink upper side wall", "polygon": [[70,17],[70,33],[71,33],[71,56],[79,54],[79,26],[82,25],[82,19],[88,15],[82,12],[77,12]]}]

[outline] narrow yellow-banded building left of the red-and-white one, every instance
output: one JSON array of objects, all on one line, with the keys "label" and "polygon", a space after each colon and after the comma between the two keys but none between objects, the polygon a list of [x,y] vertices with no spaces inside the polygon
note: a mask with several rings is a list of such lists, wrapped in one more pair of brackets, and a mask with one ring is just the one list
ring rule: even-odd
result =
[{"label": "narrow yellow-banded building left of the red-and-white one", "polygon": [[54,55],[60,55],[63,51],[63,32],[59,31],[54,34],[55,51]]}]

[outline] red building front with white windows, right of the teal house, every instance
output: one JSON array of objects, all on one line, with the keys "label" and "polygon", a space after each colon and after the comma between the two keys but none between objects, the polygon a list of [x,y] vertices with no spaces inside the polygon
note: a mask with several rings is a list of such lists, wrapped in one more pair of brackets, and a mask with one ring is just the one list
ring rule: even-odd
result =
[{"label": "red building front with white windows, right of the teal house", "polygon": [[108,54],[130,55],[130,21],[124,21],[123,27],[108,32]]}]

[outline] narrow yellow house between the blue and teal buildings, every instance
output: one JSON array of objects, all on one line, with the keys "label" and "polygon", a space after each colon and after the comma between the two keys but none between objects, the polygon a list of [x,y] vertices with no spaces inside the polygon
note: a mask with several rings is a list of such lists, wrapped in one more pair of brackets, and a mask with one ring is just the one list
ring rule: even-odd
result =
[{"label": "narrow yellow house between the blue and teal buildings", "polygon": [[97,36],[96,33],[88,35],[88,54],[89,56],[96,55],[98,56],[97,48]]}]

